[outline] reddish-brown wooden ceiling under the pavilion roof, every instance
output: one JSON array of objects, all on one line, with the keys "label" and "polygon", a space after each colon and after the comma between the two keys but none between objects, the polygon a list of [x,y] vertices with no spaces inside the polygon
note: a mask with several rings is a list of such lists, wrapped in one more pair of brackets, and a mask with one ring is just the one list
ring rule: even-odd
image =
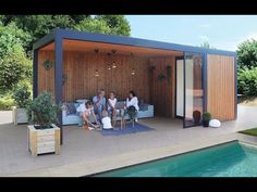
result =
[{"label": "reddish-brown wooden ceiling under the pavilion roof", "polygon": [[[175,55],[181,56],[183,52],[170,51],[170,50],[160,50],[160,49],[150,49],[150,48],[140,48],[123,44],[112,44],[112,43],[102,43],[102,42],[91,42],[91,41],[79,41],[79,40],[63,40],[63,50],[64,51],[79,51],[79,52],[94,52],[95,49],[99,50],[99,53],[111,53],[112,50],[115,50],[115,54],[130,55],[131,53],[139,56],[169,56]],[[54,43],[50,43],[40,50],[53,51]]]}]

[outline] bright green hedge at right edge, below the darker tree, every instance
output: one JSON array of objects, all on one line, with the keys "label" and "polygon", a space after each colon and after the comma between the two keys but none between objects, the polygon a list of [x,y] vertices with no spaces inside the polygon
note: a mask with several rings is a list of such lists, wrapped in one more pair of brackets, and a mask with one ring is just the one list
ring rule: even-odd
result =
[{"label": "bright green hedge at right edge, below the darker tree", "polygon": [[257,67],[238,69],[237,90],[240,94],[257,95]]}]

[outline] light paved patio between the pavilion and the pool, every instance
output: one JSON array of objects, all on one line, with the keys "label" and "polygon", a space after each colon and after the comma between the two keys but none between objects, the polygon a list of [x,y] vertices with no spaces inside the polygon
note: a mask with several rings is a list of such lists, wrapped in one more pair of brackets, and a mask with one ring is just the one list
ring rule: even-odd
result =
[{"label": "light paved patio between the pavilion and the pool", "polygon": [[37,157],[27,151],[27,125],[11,120],[11,112],[0,112],[0,176],[83,176],[234,140],[236,131],[257,126],[257,107],[238,105],[237,120],[220,128],[183,129],[179,119],[158,117],[139,120],[152,131],[103,137],[68,126],[61,155]]}]

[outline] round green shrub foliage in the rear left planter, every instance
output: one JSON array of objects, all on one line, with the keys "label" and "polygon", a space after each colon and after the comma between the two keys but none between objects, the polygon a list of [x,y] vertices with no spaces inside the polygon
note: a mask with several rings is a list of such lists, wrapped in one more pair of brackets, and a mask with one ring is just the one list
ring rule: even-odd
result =
[{"label": "round green shrub foliage in the rear left planter", "polygon": [[12,98],[14,99],[17,107],[24,108],[30,103],[30,92],[26,84],[20,84],[13,91]]}]

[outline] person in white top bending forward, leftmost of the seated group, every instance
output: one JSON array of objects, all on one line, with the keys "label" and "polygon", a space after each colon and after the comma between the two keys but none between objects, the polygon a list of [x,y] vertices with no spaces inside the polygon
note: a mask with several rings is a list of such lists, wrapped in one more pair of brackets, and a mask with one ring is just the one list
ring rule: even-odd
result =
[{"label": "person in white top bending forward, leftmost of the seated group", "polygon": [[[78,106],[77,112],[79,112],[79,116],[85,120],[86,125],[85,128],[88,129],[88,127],[97,128],[99,125],[99,121],[96,119],[96,115],[94,112],[94,107],[90,101],[87,101],[86,103],[83,103]],[[93,116],[94,120],[97,125],[94,125],[89,121],[89,117]]]}]

